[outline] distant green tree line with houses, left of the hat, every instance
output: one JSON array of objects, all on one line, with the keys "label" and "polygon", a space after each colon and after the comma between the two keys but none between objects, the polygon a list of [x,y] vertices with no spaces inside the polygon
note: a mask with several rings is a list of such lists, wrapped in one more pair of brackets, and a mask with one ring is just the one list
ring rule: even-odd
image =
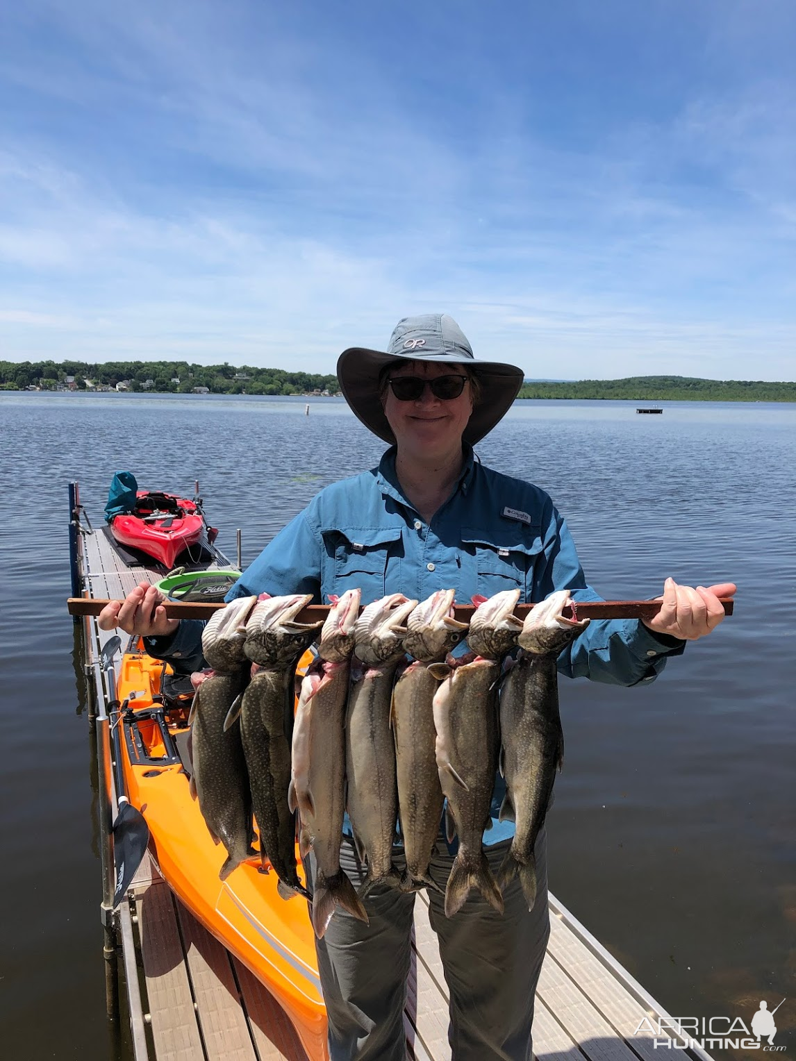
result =
[{"label": "distant green tree line with houses, left of the hat", "polygon": [[[255,368],[252,365],[193,365],[187,361],[106,361],[90,364],[85,361],[0,361],[0,388],[24,390],[30,386],[54,390],[67,384],[87,388],[116,387],[126,382],[131,390],[167,394],[191,394],[194,387],[207,387],[222,395],[301,395],[312,390],[338,394],[338,377],[330,373],[289,372],[281,368]],[[150,382],[151,381],[151,382]],[[70,383],[70,385],[72,385]]]}]

